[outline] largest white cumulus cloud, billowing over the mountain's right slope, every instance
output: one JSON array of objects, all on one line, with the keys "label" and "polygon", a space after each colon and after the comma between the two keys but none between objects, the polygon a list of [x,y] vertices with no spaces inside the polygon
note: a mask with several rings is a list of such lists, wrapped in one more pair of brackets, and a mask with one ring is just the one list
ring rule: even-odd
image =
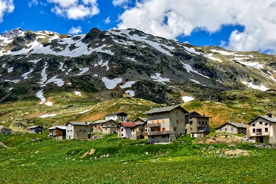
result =
[{"label": "largest white cumulus cloud, billowing over the mountain's right slope", "polygon": [[[113,2],[119,5],[125,1]],[[224,47],[239,51],[270,50],[276,53],[275,11],[274,0],[136,1],[135,7],[119,16],[117,28],[136,28],[176,39],[178,36],[189,36],[195,30],[213,34],[223,26],[241,25],[244,27],[242,32],[234,30],[228,40],[221,40]]]}]

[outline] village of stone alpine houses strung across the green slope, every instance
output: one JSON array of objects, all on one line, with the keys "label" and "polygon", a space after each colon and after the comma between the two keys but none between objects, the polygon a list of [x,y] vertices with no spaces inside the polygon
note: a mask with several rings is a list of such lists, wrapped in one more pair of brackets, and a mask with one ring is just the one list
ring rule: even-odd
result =
[{"label": "village of stone alpine houses strung across the green slope", "polygon": [[[205,114],[196,111],[188,112],[180,105],[150,108],[144,113],[147,118],[136,118],[128,121],[125,112],[106,114],[104,120],[93,123],[68,122],[65,125],[48,128],[50,137],[61,139],[93,139],[99,134],[118,133],[118,138],[131,140],[147,139],[148,144],[171,143],[178,136],[190,134],[191,137],[203,137],[212,128]],[[29,133],[42,133],[40,125],[29,127]],[[215,127],[216,132],[244,134],[251,142],[276,143],[276,118],[268,113],[267,116],[255,116],[247,124],[228,122]],[[12,130],[0,126],[0,134],[10,134]]]}]

